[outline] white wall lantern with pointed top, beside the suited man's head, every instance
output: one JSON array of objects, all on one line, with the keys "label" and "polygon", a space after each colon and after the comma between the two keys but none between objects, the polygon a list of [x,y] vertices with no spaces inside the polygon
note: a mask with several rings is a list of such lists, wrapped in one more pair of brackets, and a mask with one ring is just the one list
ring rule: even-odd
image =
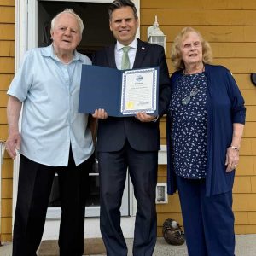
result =
[{"label": "white wall lantern with pointed top, beside the suited man's head", "polygon": [[159,28],[157,16],[155,16],[154,25],[148,27],[148,42],[159,44],[166,50],[166,35]]}]

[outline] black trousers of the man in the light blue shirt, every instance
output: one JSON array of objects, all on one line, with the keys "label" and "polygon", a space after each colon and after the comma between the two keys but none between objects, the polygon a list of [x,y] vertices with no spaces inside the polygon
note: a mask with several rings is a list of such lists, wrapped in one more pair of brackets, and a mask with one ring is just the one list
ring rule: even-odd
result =
[{"label": "black trousers of the man in the light blue shirt", "polygon": [[84,211],[92,162],[91,156],[75,166],[71,150],[67,167],[44,166],[20,155],[13,256],[37,255],[55,172],[58,173],[61,195],[60,255],[83,254]]}]

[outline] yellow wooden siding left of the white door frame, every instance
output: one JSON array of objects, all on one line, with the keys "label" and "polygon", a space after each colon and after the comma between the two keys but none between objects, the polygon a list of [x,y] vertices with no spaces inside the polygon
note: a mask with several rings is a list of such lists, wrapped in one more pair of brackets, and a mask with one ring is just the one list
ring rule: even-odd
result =
[{"label": "yellow wooden siding left of the white door frame", "polygon": [[[7,138],[6,90],[15,72],[15,0],[0,0],[0,140]],[[1,239],[12,239],[13,161],[4,154],[2,166]]]}]

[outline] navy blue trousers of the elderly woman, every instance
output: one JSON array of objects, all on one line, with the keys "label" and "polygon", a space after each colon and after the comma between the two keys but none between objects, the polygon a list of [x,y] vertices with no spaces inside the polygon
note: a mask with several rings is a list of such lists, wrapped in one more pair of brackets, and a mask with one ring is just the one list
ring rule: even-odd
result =
[{"label": "navy blue trousers of the elderly woman", "polygon": [[234,256],[232,191],[206,196],[205,179],[177,176],[189,256]]}]

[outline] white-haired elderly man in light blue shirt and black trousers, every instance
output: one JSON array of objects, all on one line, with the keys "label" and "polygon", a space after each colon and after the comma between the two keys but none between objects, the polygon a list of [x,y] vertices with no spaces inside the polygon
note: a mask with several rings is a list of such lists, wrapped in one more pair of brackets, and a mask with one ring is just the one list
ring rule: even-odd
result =
[{"label": "white-haired elderly man in light blue shirt and black trousers", "polygon": [[6,148],[13,159],[15,149],[20,151],[14,256],[37,255],[56,172],[61,191],[60,255],[80,256],[84,251],[85,183],[94,145],[88,116],[78,113],[81,67],[90,65],[90,59],[76,51],[83,29],[72,9],[56,15],[51,23],[53,43],[27,52],[8,90]]}]

